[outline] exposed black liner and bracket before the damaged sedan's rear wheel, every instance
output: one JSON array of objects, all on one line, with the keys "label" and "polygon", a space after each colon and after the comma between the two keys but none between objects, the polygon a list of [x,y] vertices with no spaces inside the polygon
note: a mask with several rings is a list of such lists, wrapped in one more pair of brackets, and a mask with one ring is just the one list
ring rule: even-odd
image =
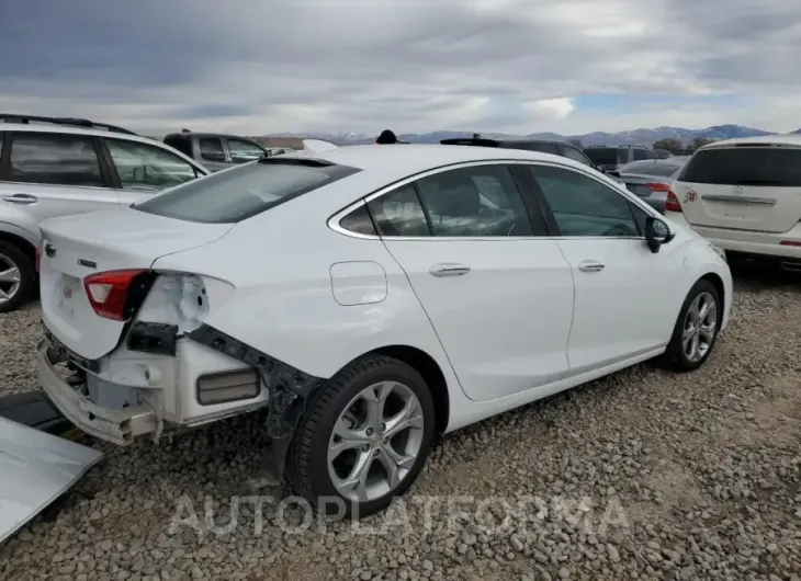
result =
[{"label": "exposed black liner and bracket before the damaged sedan's rear wheel", "polygon": [[256,368],[270,394],[267,434],[271,444],[264,453],[264,469],[273,480],[283,481],[286,452],[297,422],[306,409],[308,398],[325,379],[271,357],[207,324],[199,327],[187,337]]}]

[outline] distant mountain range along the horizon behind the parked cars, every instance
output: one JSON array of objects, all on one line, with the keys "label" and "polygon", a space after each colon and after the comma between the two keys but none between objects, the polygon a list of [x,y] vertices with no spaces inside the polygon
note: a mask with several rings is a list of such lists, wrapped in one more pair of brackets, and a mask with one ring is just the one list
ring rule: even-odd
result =
[{"label": "distant mountain range along the horizon behind the parked cars", "polygon": [[[454,137],[471,137],[474,132],[431,132],[402,134],[398,137],[404,141],[413,144],[437,144],[441,139]],[[480,132],[481,133],[481,132]],[[801,134],[801,128],[794,132]],[[706,139],[732,139],[735,137],[758,137],[760,135],[774,135],[774,132],[764,132],[742,125],[714,125],[706,129],[686,129],[684,127],[654,127],[652,129],[634,129],[631,132],[605,133],[593,132],[583,135],[560,135],[555,133],[532,133],[529,135],[512,135],[499,133],[481,133],[483,137],[530,137],[533,139],[557,139],[557,140],[580,140],[584,147],[589,146],[616,146],[616,145],[652,145],[661,139],[678,139],[684,145],[690,145],[697,137]],[[280,133],[270,134],[268,137],[297,137],[297,134]],[[326,139],[337,145],[372,144],[374,136],[345,133],[345,134],[308,134],[302,137]]]}]

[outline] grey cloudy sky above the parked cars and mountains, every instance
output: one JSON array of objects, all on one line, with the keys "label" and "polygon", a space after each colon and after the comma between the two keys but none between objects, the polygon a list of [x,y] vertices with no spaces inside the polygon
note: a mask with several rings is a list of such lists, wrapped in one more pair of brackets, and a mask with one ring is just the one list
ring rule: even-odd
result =
[{"label": "grey cloudy sky above the parked cars and mountains", "polygon": [[801,0],[5,0],[0,111],[165,133],[801,127]]}]

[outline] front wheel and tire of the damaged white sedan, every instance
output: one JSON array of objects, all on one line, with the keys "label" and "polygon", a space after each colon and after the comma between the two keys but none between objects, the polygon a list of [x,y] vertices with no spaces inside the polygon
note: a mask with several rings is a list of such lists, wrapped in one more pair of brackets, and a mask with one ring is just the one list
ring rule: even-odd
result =
[{"label": "front wheel and tire of the damaged white sedan", "polygon": [[677,372],[691,372],[709,358],[723,318],[718,288],[709,281],[698,281],[681,305],[673,337],[663,361]]}]

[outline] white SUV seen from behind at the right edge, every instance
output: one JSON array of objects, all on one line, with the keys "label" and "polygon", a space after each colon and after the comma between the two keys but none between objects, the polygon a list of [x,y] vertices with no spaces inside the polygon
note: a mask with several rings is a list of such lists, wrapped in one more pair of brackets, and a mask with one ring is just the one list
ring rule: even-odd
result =
[{"label": "white SUV seen from behind at the right edge", "polygon": [[726,253],[801,270],[801,135],[700,148],[668,193],[665,216]]}]

